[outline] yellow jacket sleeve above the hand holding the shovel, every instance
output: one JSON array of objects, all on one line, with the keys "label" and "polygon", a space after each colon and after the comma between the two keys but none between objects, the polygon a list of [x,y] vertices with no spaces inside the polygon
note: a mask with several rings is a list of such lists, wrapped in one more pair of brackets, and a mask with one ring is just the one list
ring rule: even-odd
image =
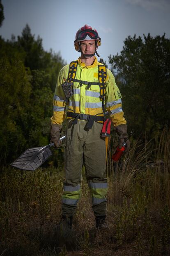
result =
[{"label": "yellow jacket sleeve above the hand holding the shovel", "polygon": [[60,70],[57,78],[53,97],[53,116],[51,117],[52,124],[62,124],[65,119],[66,97],[62,89],[62,83],[64,83],[64,78],[67,79],[67,66],[64,66]]}]

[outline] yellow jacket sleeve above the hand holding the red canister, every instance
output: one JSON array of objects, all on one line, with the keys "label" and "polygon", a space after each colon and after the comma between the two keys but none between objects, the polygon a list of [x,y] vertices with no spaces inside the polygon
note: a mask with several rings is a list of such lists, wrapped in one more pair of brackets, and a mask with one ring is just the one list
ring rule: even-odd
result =
[{"label": "yellow jacket sleeve above the hand holding the red canister", "polygon": [[124,113],[122,110],[122,95],[116,85],[115,78],[112,72],[107,69],[106,79],[106,111],[109,111],[110,119],[113,126],[116,127],[120,124],[126,124]]}]

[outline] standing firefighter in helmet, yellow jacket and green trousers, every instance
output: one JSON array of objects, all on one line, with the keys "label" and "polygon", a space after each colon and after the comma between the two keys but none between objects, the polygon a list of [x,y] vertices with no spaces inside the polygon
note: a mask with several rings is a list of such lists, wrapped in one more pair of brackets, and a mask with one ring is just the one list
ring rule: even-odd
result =
[{"label": "standing firefighter in helmet, yellow jacket and green trousers", "polygon": [[119,137],[119,147],[126,141],[128,151],[126,120],[115,78],[94,56],[101,45],[96,29],[87,25],[80,28],[76,33],[74,45],[81,56],[60,70],[51,117],[51,142],[58,146],[68,106],[62,217],[70,226],[80,199],[81,170],[84,164],[92,195],[96,228],[101,228],[106,218],[108,190],[105,177],[106,145],[105,138],[101,137],[104,112],[109,112]]}]

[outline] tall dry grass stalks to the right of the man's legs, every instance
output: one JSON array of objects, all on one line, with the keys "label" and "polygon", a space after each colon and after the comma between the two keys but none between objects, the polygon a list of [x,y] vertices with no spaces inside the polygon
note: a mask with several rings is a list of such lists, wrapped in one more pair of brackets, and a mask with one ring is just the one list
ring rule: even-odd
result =
[{"label": "tall dry grass stalks to the right of the man's legs", "polygon": [[[112,146],[111,146],[112,145]],[[170,206],[170,131],[142,142],[132,141],[128,154],[118,163],[111,161],[117,141],[113,138],[108,150],[107,175],[110,182],[110,204],[120,204],[122,196],[145,196],[149,205]]]}]

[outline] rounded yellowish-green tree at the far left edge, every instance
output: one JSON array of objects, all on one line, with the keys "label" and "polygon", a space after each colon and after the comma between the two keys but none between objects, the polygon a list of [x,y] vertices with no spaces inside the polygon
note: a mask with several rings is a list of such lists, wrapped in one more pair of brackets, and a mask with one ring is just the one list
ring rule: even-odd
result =
[{"label": "rounded yellowish-green tree at the far left edge", "polygon": [[29,109],[30,78],[20,60],[0,59],[0,164],[11,162],[27,143],[24,119]]}]

